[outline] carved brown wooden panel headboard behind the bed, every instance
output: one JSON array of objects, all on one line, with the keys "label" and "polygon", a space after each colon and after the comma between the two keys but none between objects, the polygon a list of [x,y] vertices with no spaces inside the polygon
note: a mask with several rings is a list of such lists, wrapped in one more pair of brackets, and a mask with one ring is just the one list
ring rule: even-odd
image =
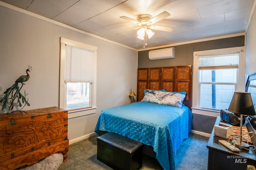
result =
[{"label": "carved brown wooden panel headboard behind the bed", "polygon": [[186,92],[183,103],[191,110],[192,66],[138,68],[137,101],[144,97],[144,90]]}]

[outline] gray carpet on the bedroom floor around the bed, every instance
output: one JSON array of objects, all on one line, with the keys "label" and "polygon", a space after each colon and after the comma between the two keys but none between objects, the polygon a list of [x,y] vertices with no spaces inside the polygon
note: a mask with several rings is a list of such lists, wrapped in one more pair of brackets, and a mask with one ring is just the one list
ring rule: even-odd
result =
[{"label": "gray carpet on the bedroom floor around the bed", "polygon": [[[58,170],[112,170],[97,160],[96,136],[84,139],[69,146],[68,160]],[[208,137],[190,133],[182,142],[175,156],[176,170],[207,170]],[[143,155],[140,170],[162,170],[158,161]]]}]

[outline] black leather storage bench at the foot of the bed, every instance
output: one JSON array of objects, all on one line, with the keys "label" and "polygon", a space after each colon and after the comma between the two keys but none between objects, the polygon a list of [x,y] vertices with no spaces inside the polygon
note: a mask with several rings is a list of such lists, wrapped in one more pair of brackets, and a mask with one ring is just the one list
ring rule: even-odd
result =
[{"label": "black leather storage bench at the foot of the bed", "polygon": [[142,167],[143,143],[113,132],[97,137],[97,159],[114,170],[138,170]]}]

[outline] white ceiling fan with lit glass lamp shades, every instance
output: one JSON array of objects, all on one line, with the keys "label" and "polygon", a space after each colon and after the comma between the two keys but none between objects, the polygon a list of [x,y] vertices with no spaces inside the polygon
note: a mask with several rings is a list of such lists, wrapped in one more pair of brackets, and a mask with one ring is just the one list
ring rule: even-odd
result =
[{"label": "white ceiling fan with lit glass lamp shades", "polygon": [[[173,31],[173,27],[165,27],[165,26],[160,26],[160,25],[152,25],[160,20],[163,20],[164,18],[170,16],[170,14],[166,11],[158,14],[157,16],[155,16],[154,18],[152,18],[151,15],[149,14],[141,14],[137,17],[137,20],[134,20],[132,18],[126,17],[126,16],[121,16],[120,18],[127,20],[127,21],[131,21],[133,23],[136,23],[137,25],[139,25],[139,27],[133,28],[133,29],[139,29],[137,34],[138,34],[138,38],[139,39],[144,39],[146,38],[146,36],[148,35],[148,38],[151,38],[154,33],[150,30],[150,29],[156,29],[156,30],[160,30],[160,31],[168,31],[168,32],[172,32]],[[150,28],[150,29],[149,29]],[[132,30],[132,29],[130,29]],[[129,30],[127,30],[129,31]],[[144,43],[144,45],[147,45]]]}]

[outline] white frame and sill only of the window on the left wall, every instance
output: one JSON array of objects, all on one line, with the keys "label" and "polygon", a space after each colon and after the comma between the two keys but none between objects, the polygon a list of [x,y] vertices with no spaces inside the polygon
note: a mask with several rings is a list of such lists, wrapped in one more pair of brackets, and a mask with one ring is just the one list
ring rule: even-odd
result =
[{"label": "white frame and sill only of the window on the left wall", "polygon": [[92,105],[87,108],[78,108],[72,109],[68,111],[68,118],[79,117],[83,115],[89,115],[96,113],[96,63],[97,63],[97,47],[88,45],[85,43],[80,43],[78,41],[66,39],[60,37],[60,92],[59,92],[59,107],[66,109],[66,92],[67,92],[67,84],[65,83],[65,51],[66,45],[71,45],[74,47],[79,47],[83,49],[88,49],[90,51],[94,51],[94,82],[92,85],[92,95],[90,96]]}]

